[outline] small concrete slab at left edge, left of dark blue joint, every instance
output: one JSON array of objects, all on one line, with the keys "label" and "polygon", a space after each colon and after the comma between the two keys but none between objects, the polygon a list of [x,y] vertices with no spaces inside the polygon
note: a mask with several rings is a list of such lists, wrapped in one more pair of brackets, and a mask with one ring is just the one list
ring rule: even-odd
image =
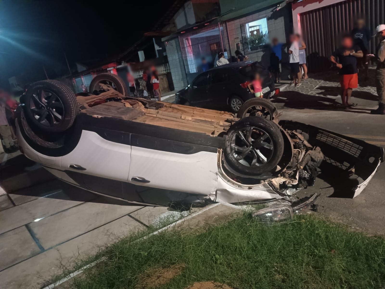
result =
[{"label": "small concrete slab at left edge, left of dark blue joint", "polygon": [[40,253],[25,226],[0,235],[0,270]]}]

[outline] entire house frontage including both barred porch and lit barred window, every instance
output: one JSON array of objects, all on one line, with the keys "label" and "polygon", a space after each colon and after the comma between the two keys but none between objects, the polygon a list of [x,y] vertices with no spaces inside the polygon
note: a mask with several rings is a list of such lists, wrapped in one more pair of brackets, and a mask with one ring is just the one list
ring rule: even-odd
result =
[{"label": "entire house frontage including both barred porch and lit barred window", "polygon": [[219,52],[236,61],[238,49],[248,55],[249,60],[261,61],[268,67],[271,39],[277,37],[280,42],[286,42],[292,32],[291,5],[286,1],[266,0],[255,4],[251,0],[220,0],[219,7],[215,2],[205,6],[199,19],[193,15],[200,3],[189,5],[189,2],[163,29],[177,30],[162,38],[176,90],[186,87],[202,72],[202,58],[214,66]]}]

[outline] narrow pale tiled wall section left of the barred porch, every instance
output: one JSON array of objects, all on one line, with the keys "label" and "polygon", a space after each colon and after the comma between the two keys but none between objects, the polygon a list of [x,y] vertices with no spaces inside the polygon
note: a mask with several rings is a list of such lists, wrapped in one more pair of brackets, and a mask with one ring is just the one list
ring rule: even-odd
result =
[{"label": "narrow pale tiled wall section left of the barred porch", "polygon": [[174,89],[180,90],[187,86],[186,72],[181,54],[179,39],[174,38],[167,42],[166,45],[167,58],[169,61],[172,82]]}]

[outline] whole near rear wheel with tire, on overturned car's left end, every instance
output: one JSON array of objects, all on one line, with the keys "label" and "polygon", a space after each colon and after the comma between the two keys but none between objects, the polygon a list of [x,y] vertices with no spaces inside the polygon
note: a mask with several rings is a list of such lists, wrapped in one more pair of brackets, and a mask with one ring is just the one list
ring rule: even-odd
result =
[{"label": "whole near rear wheel with tire, on overturned car's left end", "polygon": [[57,80],[38,81],[28,87],[24,113],[43,132],[60,133],[72,126],[79,111],[74,92]]}]

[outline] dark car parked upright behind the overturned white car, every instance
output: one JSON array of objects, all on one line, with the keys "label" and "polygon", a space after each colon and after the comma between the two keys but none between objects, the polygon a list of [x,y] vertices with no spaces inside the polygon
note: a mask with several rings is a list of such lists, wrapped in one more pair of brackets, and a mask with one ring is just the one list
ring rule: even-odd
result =
[{"label": "dark car parked upright behind the overturned white car", "polygon": [[254,96],[247,84],[256,72],[263,78],[263,97],[275,93],[275,78],[258,62],[243,61],[214,67],[199,74],[191,84],[175,94],[177,104],[210,109],[230,109],[236,113]]}]

